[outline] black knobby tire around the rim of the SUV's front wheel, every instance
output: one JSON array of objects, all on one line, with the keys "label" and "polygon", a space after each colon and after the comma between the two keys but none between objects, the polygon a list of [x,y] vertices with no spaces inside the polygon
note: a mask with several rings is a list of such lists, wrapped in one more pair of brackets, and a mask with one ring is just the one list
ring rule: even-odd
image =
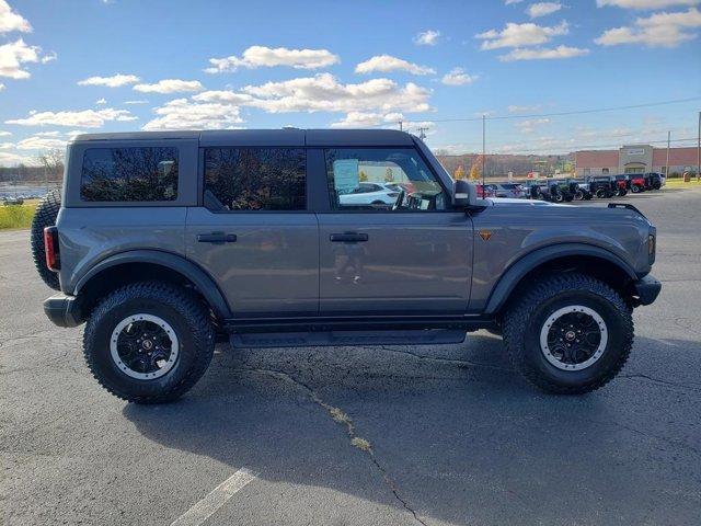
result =
[{"label": "black knobby tire around the rim of the SUV's front wheel", "polygon": [[[601,356],[581,370],[553,366],[539,341],[548,317],[571,305],[595,310],[608,331]],[[633,345],[633,319],[623,298],[604,282],[578,273],[547,277],[521,290],[503,317],[502,328],[514,367],[533,386],[558,395],[583,395],[608,384],[628,361]]]}]

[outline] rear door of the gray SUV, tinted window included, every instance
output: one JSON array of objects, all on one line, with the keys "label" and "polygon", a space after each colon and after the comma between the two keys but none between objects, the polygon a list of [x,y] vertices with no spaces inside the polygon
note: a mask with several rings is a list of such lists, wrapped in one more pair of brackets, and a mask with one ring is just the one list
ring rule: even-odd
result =
[{"label": "rear door of the gray SUV, tinted window included", "polygon": [[308,211],[306,164],[303,138],[200,149],[187,256],[215,278],[235,317],[318,313],[319,227]]}]

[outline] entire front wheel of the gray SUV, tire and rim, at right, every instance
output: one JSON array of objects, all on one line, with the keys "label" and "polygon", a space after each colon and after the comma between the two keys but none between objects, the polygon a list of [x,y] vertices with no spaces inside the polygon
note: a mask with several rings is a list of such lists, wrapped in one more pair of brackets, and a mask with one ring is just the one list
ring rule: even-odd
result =
[{"label": "entire front wheel of the gray SUV, tire and rim, at right", "polygon": [[512,363],[536,387],[582,395],[609,382],[633,344],[631,311],[605,283],[561,274],[524,290],[504,316]]}]

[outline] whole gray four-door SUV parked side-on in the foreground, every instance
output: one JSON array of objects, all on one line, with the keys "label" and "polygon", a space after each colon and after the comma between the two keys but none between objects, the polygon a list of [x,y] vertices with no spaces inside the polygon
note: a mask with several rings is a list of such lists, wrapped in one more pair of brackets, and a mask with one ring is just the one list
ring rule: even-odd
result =
[{"label": "whole gray four-door SUV parked side-on in the foreground", "polygon": [[[395,198],[341,198],[363,183]],[[42,236],[43,233],[43,236]],[[623,367],[657,297],[655,228],[631,205],[479,199],[394,130],[95,134],[39,206],[37,268],[113,395],[173,400],[215,342],[445,344],[503,335],[537,387],[584,393]]]}]

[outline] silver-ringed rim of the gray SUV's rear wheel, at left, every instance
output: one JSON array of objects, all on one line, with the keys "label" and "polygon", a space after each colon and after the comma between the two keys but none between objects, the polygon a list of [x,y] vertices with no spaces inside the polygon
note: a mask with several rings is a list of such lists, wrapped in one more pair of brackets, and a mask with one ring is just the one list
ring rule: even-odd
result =
[{"label": "silver-ringed rim of the gray SUV's rear wheel, at left", "polygon": [[[141,350],[143,352],[148,352],[151,348],[154,348],[158,351],[162,351],[161,354],[165,354],[163,359],[159,359],[156,362],[158,366],[156,370],[150,370],[150,369],[148,371],[135,370],[131,367],[131,365],[128,363],[128,361],[123,359],[125,358],[124,354],[123,353],[120,354],[119,344],[122,342],[119,339],[123,335],[123,331],[125,331],[129,325],[133,325],[134,323],[139,323],[139,322],[148,322],[148,323],[152,323],[153,325],[157,325],[157,328],[163,331],[163,333],[168,335],[168,339],[170,339],[170,345],[168,346],[156,347],[153,346],[152,342],[148,345],[142,344]],[[148,341],[145,341],[145,342],[148,342]],[[112,331],[112,335],[110,336],[110,354],[112,355],[112,359],[114,361],[115,365],[119,368],[122,373],[124,373],[127,376],[130,376],[131,378],[136,378],[138,380],[152,380],[168,374],[177,363],[179,353],[180,353],[180,343],[177,341],[177,335],[175,334],[175,331],[170,325],[170,323],[168,323],[162,318],[159,318],[158,316],[153,316],[153,315],[138,313],[138,315],[128,316],[127,318],[122,320],[119,323],[117,323],[117,327],[114,328],[114,331]]]}]

